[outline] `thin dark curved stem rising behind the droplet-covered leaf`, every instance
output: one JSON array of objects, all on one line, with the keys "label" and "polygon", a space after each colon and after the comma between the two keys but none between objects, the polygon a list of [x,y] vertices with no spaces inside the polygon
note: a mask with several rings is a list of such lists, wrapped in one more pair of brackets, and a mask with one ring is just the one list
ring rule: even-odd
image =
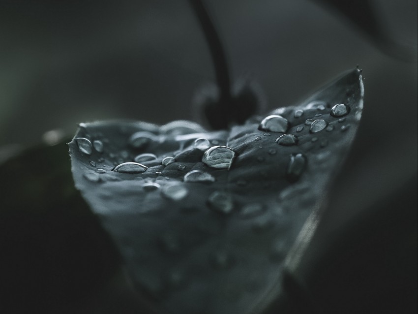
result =
[{"label": "thin dark curved stem rising behind the droplet-covered leaf", "polygon": [[213,25],[203,2],[201,0],[189,0],[189,2],[196,13],[196,16],[199,18],[200,26],[205,33],[209,45],[210,55],[212,56],[213,65],[215,67],[216,81],[220,89],[220,102],[228,102],[231,99],[231,85],[226,56],[218,33],[215,30],[215,26]]}]

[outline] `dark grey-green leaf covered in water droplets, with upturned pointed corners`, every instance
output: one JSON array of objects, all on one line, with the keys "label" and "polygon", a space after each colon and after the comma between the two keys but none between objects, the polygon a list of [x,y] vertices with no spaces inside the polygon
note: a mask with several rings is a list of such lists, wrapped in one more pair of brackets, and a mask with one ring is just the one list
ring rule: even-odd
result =
[{"label": "dark grey-green leaf covered in water droplets, with upturned pointed corners", "polygon": [[[317,218],[362,98],[355,69],[270,113],[289,125],[265,117],[216,132],[181,121],[82,124],[69,144],[76,188],[157,312],[260,313],[283,293],[284,259],[308,217]],[[336,104],[347,105],[337,108],[344,117],[330,115]],[[217,145],[235,156],[225,148],[204,153]],[[145,153],[156,157],[137,157]],[[135,158],[146,167],[114,168]]]}]

